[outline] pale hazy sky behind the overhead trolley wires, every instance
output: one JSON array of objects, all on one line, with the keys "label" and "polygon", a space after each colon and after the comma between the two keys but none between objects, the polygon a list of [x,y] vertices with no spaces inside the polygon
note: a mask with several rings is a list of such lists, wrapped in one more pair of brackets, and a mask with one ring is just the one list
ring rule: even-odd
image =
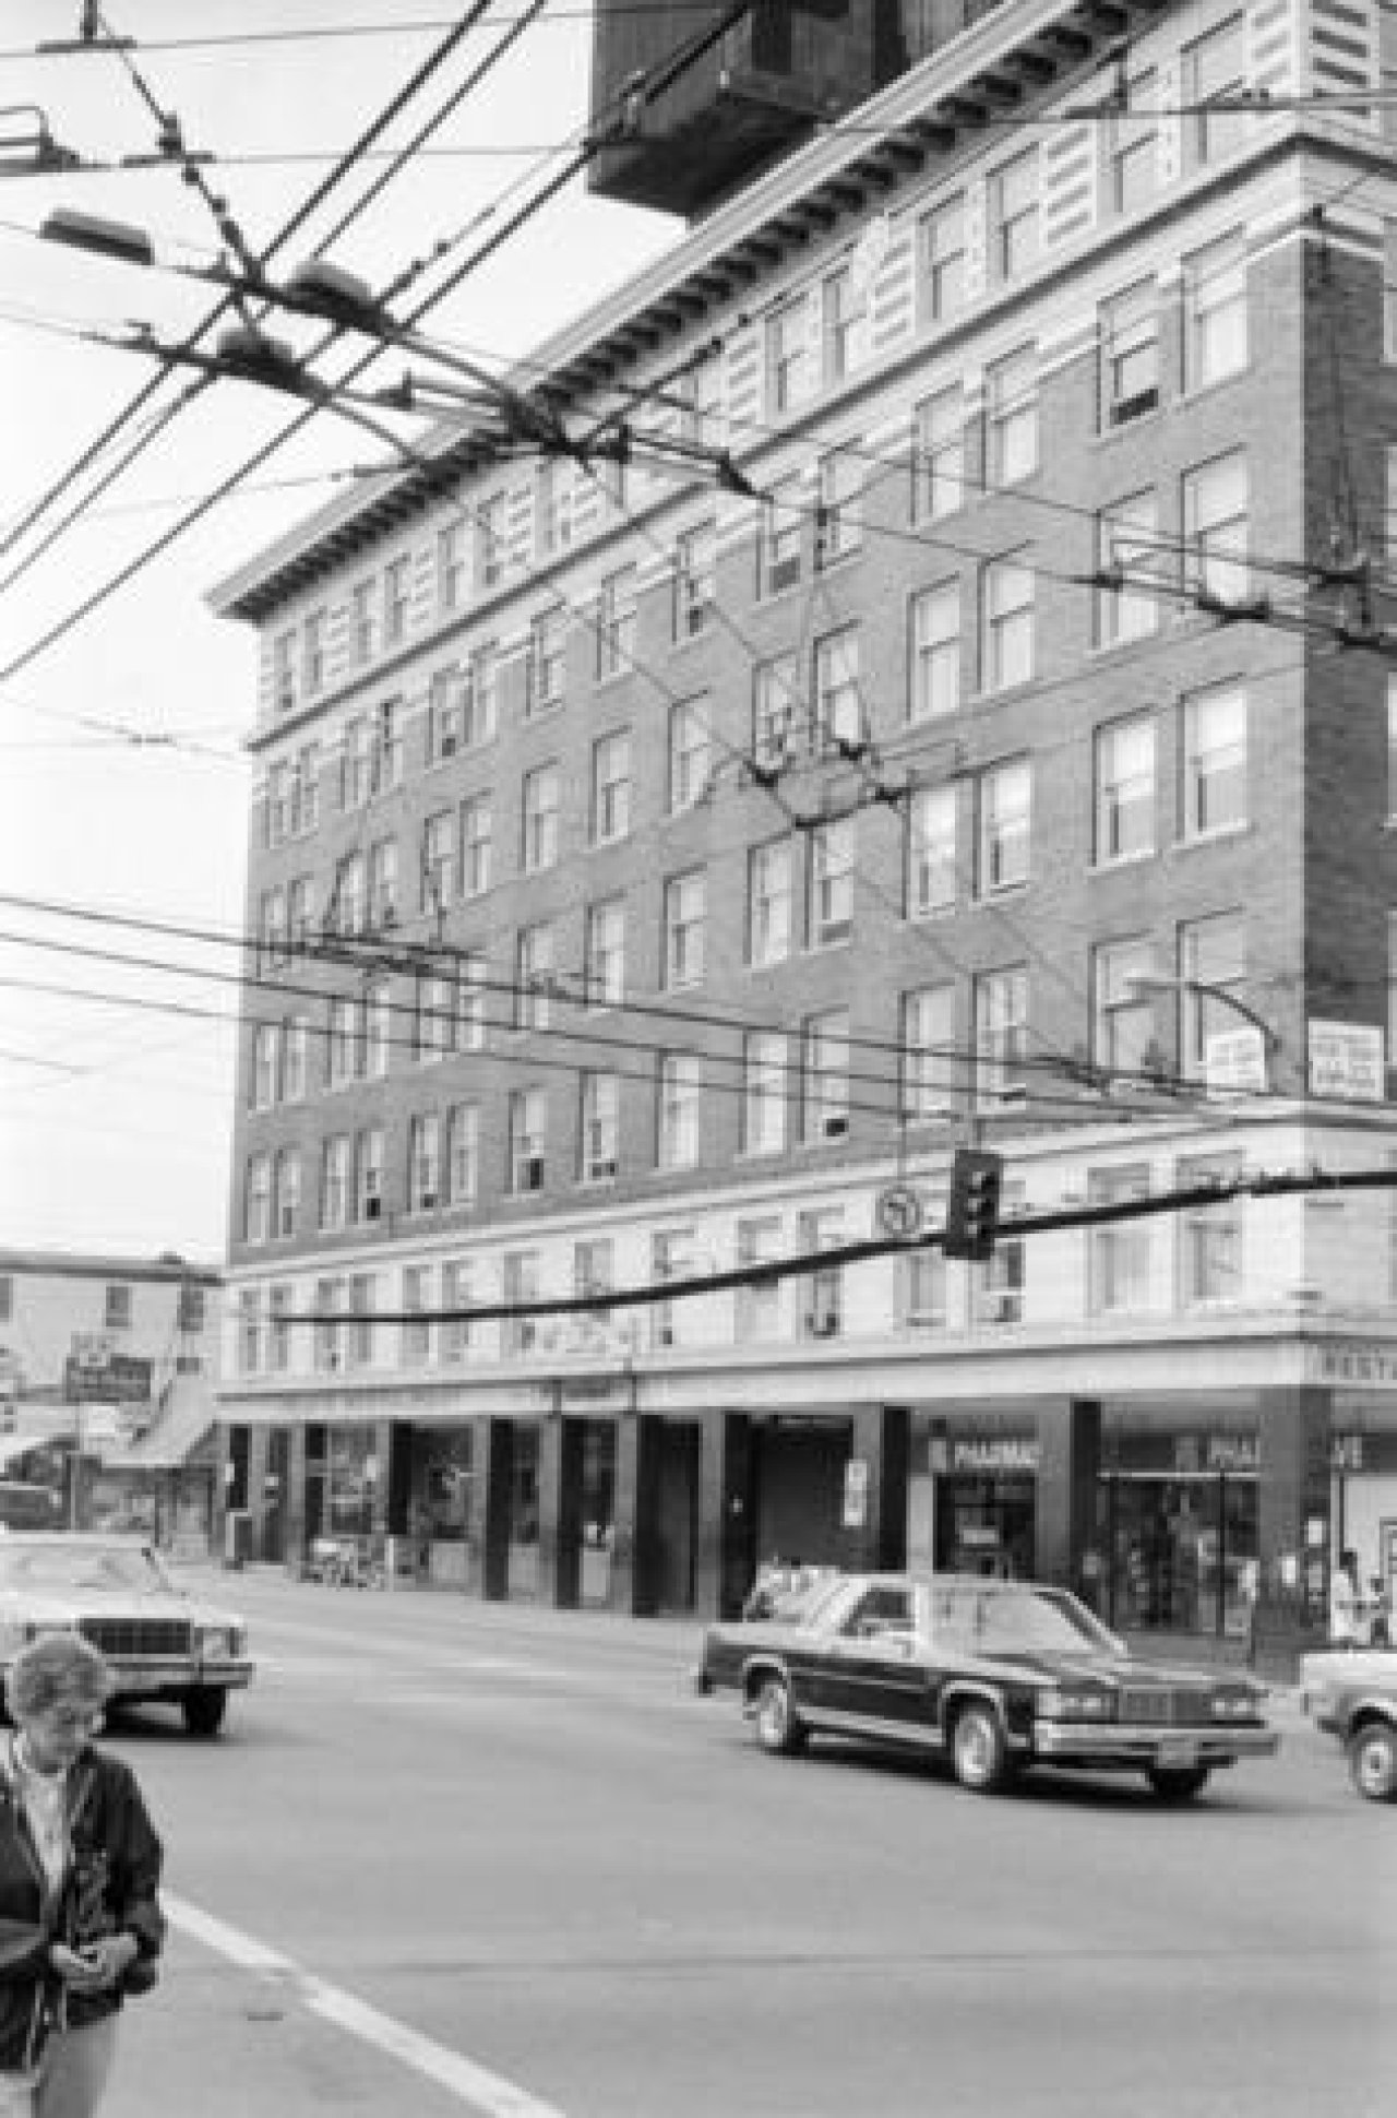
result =
[{"label": "pale hazy sky behind the overhead trolley wires", "polygon": [[[453,0],[102,4],[108,28],[138,40],[131,59],[159,106],[178,114],[188,146],[258,157],[205,172],[252,250],[271,241],[328,169],[320,159],[260,157],[345,148],[466,15]],[[464,57],[434,76],[383,144],[411,138],[521,8],[523,0],[495,0]],[[15,106],[40,106],[55,140],[85,159],[146,155],[155,121],[121,59],[36,53],[40,42],[74,38],[80,13],[78,0],[4,0],[0,142],[34,123]],[[364,21],[396,34],[174,49],[190,36]],[[470,152],[421,157],[330,254],[385,286],[436,239],[455,235],[540,167],[542,150],[582,127],[588,53],[591,8],[550,0],[434,140]],[[59,250],[32,231],[64,205],[140,222],[161,256],[182,263],[207,265],[218,250],[212,214],[174,167],[11,176],[15,159],[0,152],[0,542],[152,373],[144,356],[87,343],[70,326],[123,333],[140,320],[176,341],[212,307],[207,288]],[[381,167],[366,165],[368,174]],[[311,254],[366,182],[360,174],[339,189],[273,275]],[[677,235],[679,222],[603,205],[578,186],[423,328],[485,358],[523,354]],[[385,358],[368,381],[387,383],[394,373]],[[155,405],[176,394],[167,381]],[[2,553],[0,667],[11,669],[294,411],[290,398],[220,381],[34,563],[36,532]],[[241,746],[252,724],[254,635],[212,618],[203,599],[220,576],[343,489],[326,472],[379,455],[353,426],[318,417],[239,496],[0,678],[0,1243],[178,1250],[199,1260],[224,1252],[231,951],[104,919],[241,928],[250,786]],[[47,525],[85,493],[87,483],[76,485]],[[112,955],[146,962],[121,966]],[[218,970],[222,981],[210,979]]]}]

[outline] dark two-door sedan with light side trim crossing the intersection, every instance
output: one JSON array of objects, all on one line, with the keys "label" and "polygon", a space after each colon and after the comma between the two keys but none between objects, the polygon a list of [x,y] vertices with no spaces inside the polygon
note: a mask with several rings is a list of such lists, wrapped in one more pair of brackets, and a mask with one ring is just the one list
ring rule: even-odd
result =
[{"label": "dark two-door sedan with light side trim crossing the intersection", "polygon": [[849,1574],[790,1616],[713,1625],[696,1688],[737,1692],[764,1749],[912,1745],[976,1792],[1052,1764],[1185,1802],[1281,1745],[1255,1680],[1139,1661],[1065,1588],[959,1574]]}]

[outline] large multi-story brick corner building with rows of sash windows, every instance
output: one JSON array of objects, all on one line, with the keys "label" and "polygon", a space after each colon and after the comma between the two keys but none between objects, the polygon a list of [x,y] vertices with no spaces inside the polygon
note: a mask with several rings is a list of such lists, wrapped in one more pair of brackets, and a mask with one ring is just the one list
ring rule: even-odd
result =
[{"label": "large multi-story brick corner building with rows of sash windows", "polygon": [[220,587],[224,1415],[292,1552],[933,1555],[1219,1641],[1389,1563],[1384,1192],[817,1254],[972,1125],[1035,1214],[1391,1156],[1393,34],[1008,0],[538,349],[629,462],[440,430]]}]

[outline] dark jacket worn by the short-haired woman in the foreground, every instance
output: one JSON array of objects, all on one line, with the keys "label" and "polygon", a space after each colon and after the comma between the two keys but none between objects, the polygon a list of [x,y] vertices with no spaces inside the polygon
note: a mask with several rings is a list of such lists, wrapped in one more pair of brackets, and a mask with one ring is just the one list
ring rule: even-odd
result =
[{"label": "dark jacket worn by the short-haired woman in the foreground", "polygon": [[[47,1906],[11,1745],[0,1737],[0,2074],[34,2065],[51,2029],[95,2023],[127,1993],[146,1993],[165,1940],[161,1841],[135,1775],[85,1745],[66,1794],[72,1860],[59,1904]],[[49,1966],[49,1946],[80,1949],[104,1934],[133,1934],[140,1955],[102,1993],[70,1991]]]}]

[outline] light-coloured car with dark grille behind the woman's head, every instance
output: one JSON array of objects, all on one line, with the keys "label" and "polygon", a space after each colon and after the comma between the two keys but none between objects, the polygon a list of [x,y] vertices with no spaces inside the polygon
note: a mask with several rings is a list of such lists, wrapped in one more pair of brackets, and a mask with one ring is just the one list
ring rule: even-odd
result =
[{"label": "light-coloured car with dark grille behind the woman's head", "polygon": [[243,1620],[186,1595],[142,1538],[78,1531],[0,1536],[0,1686],[40,1633],[91,1639],[114,1703],[171,1703],[190,1735],[218,1735],[229,1694],[252,1682]]}]

